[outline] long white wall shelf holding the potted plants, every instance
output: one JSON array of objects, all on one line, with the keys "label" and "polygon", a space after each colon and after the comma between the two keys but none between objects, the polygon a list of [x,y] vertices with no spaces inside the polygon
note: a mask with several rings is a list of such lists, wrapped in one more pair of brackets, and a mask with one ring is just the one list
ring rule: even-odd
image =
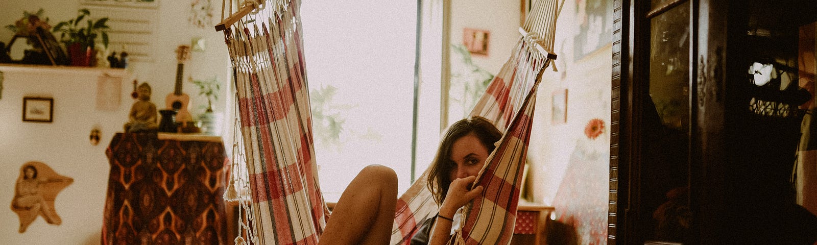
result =
[{"label": "long white wall shelf holding the potted plants", "polygon": [[126,69],[100,68],[68,65],[20,65],[20,64],[0,64],[0,72],[5,73],[72,73],[72,74],[98,74],[105,73],[112,77],[129,78],[131,73]]}]

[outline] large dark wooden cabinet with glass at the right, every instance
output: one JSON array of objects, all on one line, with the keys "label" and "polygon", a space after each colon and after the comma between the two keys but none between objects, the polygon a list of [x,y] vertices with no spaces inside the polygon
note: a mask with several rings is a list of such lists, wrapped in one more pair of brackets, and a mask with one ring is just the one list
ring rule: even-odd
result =
[{"label": "large dark wooden cabinet with glass at the right", "polygon": [[609,244],[814,243],[791,181],[814,95],[784,80],[815,20],[817,1],[614,1]]}]

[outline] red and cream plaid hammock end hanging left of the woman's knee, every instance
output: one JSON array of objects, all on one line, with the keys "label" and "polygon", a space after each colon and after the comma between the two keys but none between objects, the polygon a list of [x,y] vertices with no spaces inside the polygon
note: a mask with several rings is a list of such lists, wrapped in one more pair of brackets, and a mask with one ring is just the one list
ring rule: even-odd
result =
[{"label": "red and cream plaid hammock end hanging left of the woman's knee", "polygon": [[317,244],[325,226],[299,5],[291,1],[283,15],[256,22],[261,26],[225,30],[248,156],[254,244]]}]

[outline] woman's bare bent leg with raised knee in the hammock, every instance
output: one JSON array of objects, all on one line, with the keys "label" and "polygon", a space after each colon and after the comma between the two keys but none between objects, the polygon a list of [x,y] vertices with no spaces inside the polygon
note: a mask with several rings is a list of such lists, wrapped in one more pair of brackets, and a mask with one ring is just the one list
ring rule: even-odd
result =
[{"label": "woman's bare bent leg with raised knee in the hammock", "polygon": [[397,175],[365,167],[343,191],[319,244],[388,244],[397,205]]}]

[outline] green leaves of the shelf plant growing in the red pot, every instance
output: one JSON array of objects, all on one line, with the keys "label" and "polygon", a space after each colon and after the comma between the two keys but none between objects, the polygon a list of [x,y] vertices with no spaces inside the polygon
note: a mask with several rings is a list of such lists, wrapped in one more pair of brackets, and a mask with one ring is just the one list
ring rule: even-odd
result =
[{"label": "green leaves of the shelf plant growing in the red pot", "polygon": [[[91,19],[91,11],[81,9],[78,16],[71,20],[65,20],[54,26],[52,32],[60,32],[60,40],[68,47],[74,43],[79,43],[84,48],[95,47],[96,38],[102,38],[102,44],[108,47],[108,17],[99,20]],[[83,21],[84,20],[84,21]],[[85,25],[82,25],[85,24]]]}]

